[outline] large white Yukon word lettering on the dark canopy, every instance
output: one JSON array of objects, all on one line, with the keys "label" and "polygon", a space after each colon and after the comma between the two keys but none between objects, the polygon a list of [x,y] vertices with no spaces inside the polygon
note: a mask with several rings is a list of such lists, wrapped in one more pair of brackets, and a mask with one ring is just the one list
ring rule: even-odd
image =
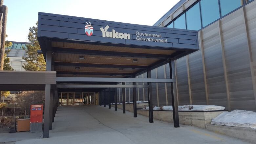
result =
[{"label": "large white Yukon word lettering on the dark canopy", "polygon": [[131,39],[131,36],[129,33],[119,33],[116,32],[114,29],[112,31],[107,31],[109,26],[107,25],[104,29],[100,28],[100,31],[102,32],[102,37],[111,37],[111,38],[120,38],[120,39]]}]

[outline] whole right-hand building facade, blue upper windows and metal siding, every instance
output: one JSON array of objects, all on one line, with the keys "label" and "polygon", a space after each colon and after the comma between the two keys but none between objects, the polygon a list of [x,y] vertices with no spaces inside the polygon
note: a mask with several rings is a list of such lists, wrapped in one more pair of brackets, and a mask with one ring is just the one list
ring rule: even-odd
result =
[{"label": "whole right-hand building facade, blue upper windows and metal siding", "polygon": [[[181,0],[154,24],[198,31],[200,51],[175,61],[179,105],[256,111],[255,11],[254,0]],[[152,78],[168,73],[166,64],[154,69]],[[152,86],[154,105],[170,105],[169,85]],[[138,99],[147,101],[145,94],[139,89]]]}]

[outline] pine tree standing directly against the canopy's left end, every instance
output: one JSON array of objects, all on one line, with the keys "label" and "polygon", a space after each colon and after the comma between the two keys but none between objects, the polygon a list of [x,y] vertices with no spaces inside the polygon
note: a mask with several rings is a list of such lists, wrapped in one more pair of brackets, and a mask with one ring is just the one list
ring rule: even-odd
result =
[{"label": "pine tree standing directly against the canopy's left end", "polygon": [[27,49],[23,48],[29,57],[22,57],[27,64],[22,66],[26,71],[45,71],[46,63],[43,57],[43,54],[38,54],[37,50],[41,50],[40,45],[37,40],[37,26],[38,22],[36,22],[36,27],[30,27],[28,40],[31,43],[27,45]]}]

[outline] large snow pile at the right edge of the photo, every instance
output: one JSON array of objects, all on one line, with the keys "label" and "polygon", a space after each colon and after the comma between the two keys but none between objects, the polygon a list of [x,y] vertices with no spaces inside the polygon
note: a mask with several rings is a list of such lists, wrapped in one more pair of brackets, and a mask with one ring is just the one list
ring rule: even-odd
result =
[{"label": "large snow pile at the right edge of the photo", "polygon": [[234,110],[212,119],[211,124],[256,129],[256,112]]}]

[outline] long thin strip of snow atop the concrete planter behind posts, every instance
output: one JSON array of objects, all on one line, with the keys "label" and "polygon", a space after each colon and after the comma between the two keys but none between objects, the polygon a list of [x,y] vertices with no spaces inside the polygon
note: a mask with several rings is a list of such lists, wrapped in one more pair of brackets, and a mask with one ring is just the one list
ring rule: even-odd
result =
[{"label": "long thin strip of snow atop the concrete planter behind posts", "polygon": [[[224,110],[225,107],[221,106],[214,106],[214,105],[184,105],[178,106],[179,111],[218,111]],[[143,108],[142,110],[148,110],[148,107]],[[169,110],[172,111],[172,106],[163,106],[163,107],[156,107],[154,106],[153,110]]]}]

